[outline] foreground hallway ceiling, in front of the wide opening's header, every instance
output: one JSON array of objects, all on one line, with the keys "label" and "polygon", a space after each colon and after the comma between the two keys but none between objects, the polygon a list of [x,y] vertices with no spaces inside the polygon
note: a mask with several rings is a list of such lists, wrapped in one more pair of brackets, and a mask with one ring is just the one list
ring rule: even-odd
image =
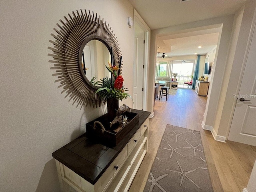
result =
[{"label": "foreground hallway ceiling, in front of the wide opening's header", "polygon": [[128,0],[151,30],[234,14],[246,0]]}]

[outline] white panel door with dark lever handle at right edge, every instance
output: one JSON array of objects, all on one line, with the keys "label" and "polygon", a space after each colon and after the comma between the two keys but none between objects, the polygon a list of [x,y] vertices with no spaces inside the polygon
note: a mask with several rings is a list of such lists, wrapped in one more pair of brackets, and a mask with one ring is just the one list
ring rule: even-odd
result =
[{"label": "white panel door with dark lever handle at right edge", "polygon": [[[228,140],[256,146],[256,31],[252,35]],[[244,98],[245,101],[241,101]],[[248,100],[248,101],[246,101]],[[249,101],[250,100],[250,101]]]}]

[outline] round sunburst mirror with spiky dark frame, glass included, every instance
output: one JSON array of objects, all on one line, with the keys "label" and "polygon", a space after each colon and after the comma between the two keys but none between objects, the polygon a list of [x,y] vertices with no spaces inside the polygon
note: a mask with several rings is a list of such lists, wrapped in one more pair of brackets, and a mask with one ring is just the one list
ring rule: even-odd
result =
[{"label": "round sunburst mirror with spiky dark frame, glass included", "polygon": [[[85,13],[84,13],[85,12]],[[76,10],[64,16],[64,21],[57,23],[56,34],[51,34],[54,45],[52,50],[54,69],[61,86],[77,106],[99,107],[105,100],[95,94],[98,87],[94,80],[107,75],[105,65],[112,61],[112,65],[119,64],[121,51],[115,34],[109,24],[86,10]],[[122,70],[121,70],[122,73]],[[93,79],[94,78],[94,79]]]}]

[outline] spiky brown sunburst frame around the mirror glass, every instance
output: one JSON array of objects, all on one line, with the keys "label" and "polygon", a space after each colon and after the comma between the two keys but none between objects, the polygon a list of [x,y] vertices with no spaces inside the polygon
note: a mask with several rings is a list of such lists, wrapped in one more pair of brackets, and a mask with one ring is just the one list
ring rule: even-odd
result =
[{"label": "spiky brown sunburst frame around the mirror glass", "polygon": [[[73,104],[77,103],[77,107],[79,105],[81,108],[82,106],[100,107],[105,104],[105,100],[95,94],[98,87],[92,85],[84,74],[81,65],[82,51],[90,40],[100,40],[109,51],[112,47],[110,54],[114,64],[120,62],[121,51],[113,30],[103,18],[101,20],[97,14],[94,16],[94,12],[91,15],[90,10],[89,14],[86,10],[84,10],[85,14],[80,11],[81,13],[76,10],[76,14],[72,12],[73,16],[68,14],[69,19],[64,16],[66,22],[60,20],[63,26],[57,24],[60,29],[54,28],[57,34],[51,34],[55,41],[50,40],[54,45],[54,48],[49,47],[53,51],[53,54],[49,54],[53,57],[50,62],[54,63],[55,69],[57,68],[57,81],[60,81],[64,88],[62,93],[67,93],[65,98],[69,96],[70,100],[74,101]],[[102,64],[102,67],[105,67],[104,65]]]}]

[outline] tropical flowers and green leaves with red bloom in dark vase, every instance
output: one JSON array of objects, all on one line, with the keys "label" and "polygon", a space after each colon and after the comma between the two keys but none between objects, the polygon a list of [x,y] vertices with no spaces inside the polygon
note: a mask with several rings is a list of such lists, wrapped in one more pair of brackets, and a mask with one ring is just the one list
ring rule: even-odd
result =
[{"label": "tropical flowers and green leaves with red bloom in dark vase", "polygon": [[124,79],[122,75],[120,75],[120,65],[119,67],[112,66],[108,62],[106,68],[111,73],[111,76],[110,78],[107,76],[98,82],[100,88],[96,91],[96,94],[99,94],[104,100],[116,98],[122,101],[128,96],[131,98],[131,96],[125,92],[127,89],[123,86]]}]

